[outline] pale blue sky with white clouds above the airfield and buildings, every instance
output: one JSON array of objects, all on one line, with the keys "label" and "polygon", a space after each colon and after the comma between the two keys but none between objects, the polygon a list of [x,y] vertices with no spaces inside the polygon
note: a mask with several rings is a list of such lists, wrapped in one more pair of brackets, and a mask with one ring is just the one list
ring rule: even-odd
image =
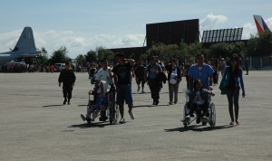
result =
[{"label": "pale blue sky with white clouds above the airfield and buildings", "polygon": [[244,27],[243,39],[256,34],[253,14],[272,29],[268,0],[8,0],[0,1],[0,52],[14,48],[24,26],[31,26],[37,48],[49,56],[66,46],[68,56],[98,46],[142,46],[145,25],[199,19],[203,30]]}]

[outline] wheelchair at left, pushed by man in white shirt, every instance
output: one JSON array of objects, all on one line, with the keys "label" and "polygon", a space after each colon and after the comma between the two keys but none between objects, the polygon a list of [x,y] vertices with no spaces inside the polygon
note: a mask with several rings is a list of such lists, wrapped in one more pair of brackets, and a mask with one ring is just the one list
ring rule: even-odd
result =
[{"label": "wheelchair at left, pushed by man in white shirt", "polygon": [[[89,109],[95,104],[95,97],[92,98],[92,94],[89,94],[88,105],[87,105],[87,113]],[[105,102],[105,109],[102,111],[100,108],[95,109],[92,111],[92,117],[86,118],[88,123],[92,123],[95,121],[95,118],[101,117],[105,118],[105,120],[110,121],[110,124],[115,124],[119,118],[119,107],[115,100],[115,88],[111,86],[110,90],[107,90],[106,93],[106,102]]]}]

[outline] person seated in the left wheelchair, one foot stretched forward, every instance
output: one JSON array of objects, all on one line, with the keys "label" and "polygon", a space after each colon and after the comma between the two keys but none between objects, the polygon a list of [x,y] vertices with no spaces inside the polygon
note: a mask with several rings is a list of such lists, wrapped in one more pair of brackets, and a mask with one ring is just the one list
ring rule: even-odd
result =
[{"label": "person seated in the left wheelchair, one foot stretched forward", "polygon": [[83,121],[92,120],[91,115],[92,112],[96,109],[105,110],[106,107],[106,101],[107,101],[107,86],[108,83],[104,80],[96,80],[95,81],[95,87],[93,90],[89,91],[89,95],[94,96],[95,104],[92,105],[92,107],[87,111],[86,117],[84,117],[83,114],[81,114],[81,117],[83,118]]}]

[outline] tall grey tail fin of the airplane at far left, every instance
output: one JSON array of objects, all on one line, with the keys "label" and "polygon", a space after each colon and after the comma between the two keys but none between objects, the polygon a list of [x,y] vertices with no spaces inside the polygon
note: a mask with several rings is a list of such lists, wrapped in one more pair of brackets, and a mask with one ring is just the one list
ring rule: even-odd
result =
[{"label": "tall grey tail fin of the airplane at far left", "polygon": [[15,45],[13,52],[20,51],[28,54],[36,53],[36,46],[34,43],[34,35],[31,27],[24,27],[18,42]]}]

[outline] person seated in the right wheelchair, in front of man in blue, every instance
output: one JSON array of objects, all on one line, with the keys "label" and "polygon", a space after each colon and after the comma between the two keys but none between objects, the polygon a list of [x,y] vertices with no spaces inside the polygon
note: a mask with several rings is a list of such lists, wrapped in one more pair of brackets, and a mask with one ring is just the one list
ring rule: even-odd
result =
[{"label": "person seated in the right wheelchair, in front of man in blue", "polygon": [[[209,117],[209,94],[212,96],[214,92],[211,90],[203,89],[201,80],[194,81],[194,89],[189,93],[189,109],[190,114],[185,117],[188,119],[190,115],[195,111],[197,113],[197,123],[200,123],[200,119],[202,122],[207,123]],[[201,111],[203,111],[202,118]]]}]

